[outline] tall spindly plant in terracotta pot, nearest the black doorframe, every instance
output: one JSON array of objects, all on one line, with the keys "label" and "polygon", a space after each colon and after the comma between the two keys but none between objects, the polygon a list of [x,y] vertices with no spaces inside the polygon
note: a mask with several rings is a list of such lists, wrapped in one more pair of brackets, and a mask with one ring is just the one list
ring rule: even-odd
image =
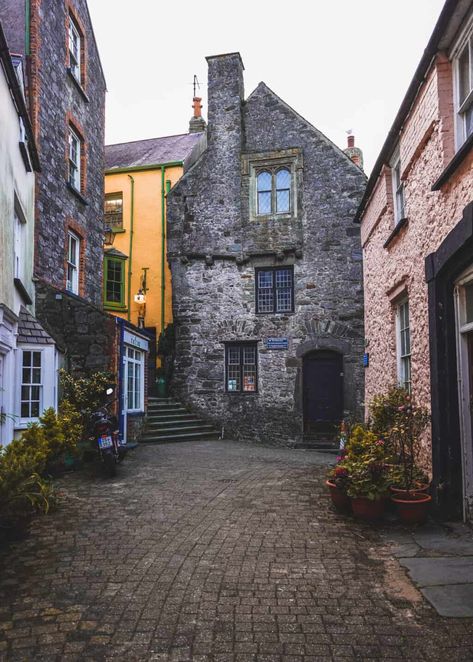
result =
[{"label": "tall spindly plant in terracotta pot, nearest the black doorframe", "polygon": [[409,398],[406,404],[398,407],[390,431],[390,441],[399,459],[398,466],[392,472],[396,491],[391,500],[397,506],[401,521],[408,524],[425,522],[432,500],[429,494],[420,491],[425,489],[425,484],[421,482],[425,474],[418,466],[421,435],[428,422],[428,412]]}]

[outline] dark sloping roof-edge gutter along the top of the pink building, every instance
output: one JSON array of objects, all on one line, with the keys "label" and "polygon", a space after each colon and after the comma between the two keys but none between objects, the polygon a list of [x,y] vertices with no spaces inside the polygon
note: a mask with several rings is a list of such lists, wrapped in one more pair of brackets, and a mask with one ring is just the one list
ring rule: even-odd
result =
[{"label": "dark sloping roof-edge gutter along the top of the pink building", "polygon": [[353,219],[354,223],[361,222],[361,216],[363,215],[366,205],[371,197],[371,194],[373,193],[381,170],[384,164],[387,163],[391,157],[395,144],[399,139],[399,134],[404,126],[404,122],[409,115],[412,105],[416,100],[417,95],[419,94],[420,87],[425,81],[426,75],[429,72],[432,62],[438,52],[440,39],[443,36],[455,10],[457,9],[457,5],[458,0],[447,0],[440,13],[434,31],[432,32],[432,36],[429,39],[429,43],[424,50],[421,61],[417,65],[414,77],[411,80],[409,87],[407,88],[406,95],[397,112],[393,125],[389,130],[386,140],[384,141],[384,145],[381,148],[381,152],[379,153],[376,163],[374,164],[373,170],[366,185],[365,193],[361,199],[360,205],[355,214],[355,218]]}]

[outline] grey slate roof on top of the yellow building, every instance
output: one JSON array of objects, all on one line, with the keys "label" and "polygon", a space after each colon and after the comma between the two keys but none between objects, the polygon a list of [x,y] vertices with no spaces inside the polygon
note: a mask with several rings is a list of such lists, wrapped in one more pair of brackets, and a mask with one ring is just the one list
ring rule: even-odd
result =
[{"label": "grey slate roof on top of the yellow building", "polygon": [[136,168],[171,161],[185,161],[203,133],[148,138],[129,143],[105,145],[105,169]]}]

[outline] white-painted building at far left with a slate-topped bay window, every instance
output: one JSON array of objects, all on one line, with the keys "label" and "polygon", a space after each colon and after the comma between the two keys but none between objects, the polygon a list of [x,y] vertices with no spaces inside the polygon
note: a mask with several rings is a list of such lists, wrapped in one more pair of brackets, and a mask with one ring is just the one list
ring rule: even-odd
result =
[{"label": "white-painted building at far left with a slate-topped bay window", "polygon": [[24,61],[0,22],[0,446],[55,406],[57,353],[34,318],[35,173],[40,162],[24,98]]}]

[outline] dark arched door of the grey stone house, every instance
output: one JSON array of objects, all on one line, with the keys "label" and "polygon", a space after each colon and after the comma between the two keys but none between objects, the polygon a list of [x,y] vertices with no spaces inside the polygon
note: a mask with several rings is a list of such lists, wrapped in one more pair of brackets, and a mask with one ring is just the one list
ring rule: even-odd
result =
[{"label": "dark arched door of the grey stone house", "polygon": [[332,431],[343,418],[343,355],[333,350],[305,354],[302,364],[304,432]]}]

